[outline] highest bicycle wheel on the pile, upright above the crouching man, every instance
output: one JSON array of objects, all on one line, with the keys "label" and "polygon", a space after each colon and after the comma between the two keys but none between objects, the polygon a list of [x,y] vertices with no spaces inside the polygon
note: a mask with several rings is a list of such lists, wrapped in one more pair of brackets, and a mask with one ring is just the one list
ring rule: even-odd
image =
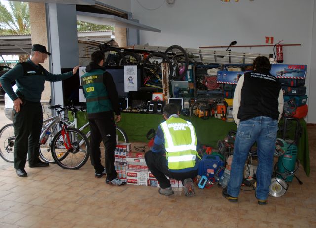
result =
[{"label": "highest bicycle wheel on the pile, upright above the crouching man", "polygon": [[167,48],[165,54],[172,62],[173,74],[169,77],[169,80],[182,79],[188,71],[189,58],[187,52],[178,45],[172,45]]}]

